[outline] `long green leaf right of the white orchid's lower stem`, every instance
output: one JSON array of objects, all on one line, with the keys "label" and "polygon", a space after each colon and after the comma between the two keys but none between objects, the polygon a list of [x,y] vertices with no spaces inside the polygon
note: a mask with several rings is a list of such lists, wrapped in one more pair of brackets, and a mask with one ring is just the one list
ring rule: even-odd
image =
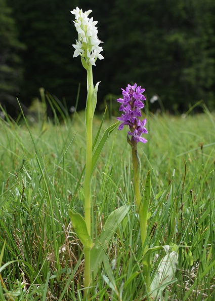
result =
[{"label": "long green leaf right of the white orchid's lower stem", "polygon": [[98,269],[106,255],[107,245],[109,245],[118,225],[128,213],[129,208],[130,206],[126,204],[114,210],[108,216],[100,236],[96,239],[95,244],[91,249],[91,271],[93,271],[94,275],[97,275]]}]

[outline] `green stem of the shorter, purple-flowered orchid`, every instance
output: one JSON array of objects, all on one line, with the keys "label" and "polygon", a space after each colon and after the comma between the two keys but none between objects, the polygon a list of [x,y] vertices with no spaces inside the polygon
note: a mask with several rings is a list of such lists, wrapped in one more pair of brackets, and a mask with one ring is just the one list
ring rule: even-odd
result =
[{"label": "green stem of the shorter, purple-flowered orchid", "polygon": [[[141,193],[140,193],[140,175],[141,175],[141,162],[137,153],[137,142],[133,140],[130,143],[132,146],[132,159],[133,159],[133,168],[134,168],[134,189],[135,189],[135,197],[136,203],[138,207],[138,215],[140,221],[140,232],[141,232],[141,241],[143,250],[143,256],[146,254],[148,250],[148,244],[146,242],[147,237],[147,214],[148,214],[148,206],[144,208],[144,204],[141,201]],[[146,281],[146,287],[148,292],[151,291],[151,257],[150,254],[146,255],[143,262],[144,267],[144,278]],[[149,297],[151,300],[151,297]]]}]

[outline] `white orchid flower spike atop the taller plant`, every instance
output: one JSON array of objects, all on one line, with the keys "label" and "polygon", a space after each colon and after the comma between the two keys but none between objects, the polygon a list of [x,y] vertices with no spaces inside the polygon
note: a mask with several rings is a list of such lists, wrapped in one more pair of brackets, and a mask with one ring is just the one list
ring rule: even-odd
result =
[{"label": "white orchid flower spike atop the taller plant", "polygon": [[[97,37],[98,30],[95,25],[98,21],[94,21],[93,17],[91,19],[88,17],[91,12],[89,10],[83,13],[78,7],[71,11],[75,15],[73,22],[78,33],[78,40],[72,45],[75,49],[73,57],[80,55],[87,65],[96,65],[97,58],[100,60],[104,58],[100,53],[103,49],[99,46],[103,42]],[[82,64],[85,65],[83,62]]]}]

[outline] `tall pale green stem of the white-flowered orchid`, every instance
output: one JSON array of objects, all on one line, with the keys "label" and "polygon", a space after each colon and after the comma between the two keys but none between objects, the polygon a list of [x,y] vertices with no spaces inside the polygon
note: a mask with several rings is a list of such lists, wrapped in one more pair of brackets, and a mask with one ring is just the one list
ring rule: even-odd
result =
[{"label": "tall pale green stem of the white-flowered orchid", "polygon": [[[89,66],[87,70],[87,80],[88,80],[88,98],[86,105],[86,115],[85,115],[85,135],[86,135],[86,167],[85,167],[85,177],[83,182],[84,191],[84,219],[87,225],[88,234],[91,236],[91,194],[92,194],[92,146],[93,146],[93,107],[92,107],[92,95],[93,95],[93,70],[92,65]],[[84,250],[84,288],[90,286],[91,283],[91,249],[85,248]],[[84,296],[88,299],[88,290],[84,290]]]}]

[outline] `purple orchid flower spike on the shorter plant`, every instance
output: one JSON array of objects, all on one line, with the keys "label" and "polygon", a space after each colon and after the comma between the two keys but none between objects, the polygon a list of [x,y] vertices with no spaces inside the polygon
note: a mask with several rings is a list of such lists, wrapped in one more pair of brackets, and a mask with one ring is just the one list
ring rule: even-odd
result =
[{"label": "purple orchid flower spike on the shorter plant", "polygon": [[146,100],[145,96],[142,93],[145,89],[141,89],[141,86],[137,87],[135,83],[134,86],[127,85],[127,87],[122,90],[123,98],[117,99],[121,106],[120,111],[123,111],[124,114],[117,119],[122,122],[119,126],[119,130],[122,130],[124,125],[128,125],[130,131],[127,132],[128,135],[131,135],[131,142],[143,142],[146,143],[147,140],[142,136],[142,134],[147,134],[148,131],[145,128],[146,119],[141,121],[139,118],[142,116],[141,109],[144,107],[142,100]]}]

